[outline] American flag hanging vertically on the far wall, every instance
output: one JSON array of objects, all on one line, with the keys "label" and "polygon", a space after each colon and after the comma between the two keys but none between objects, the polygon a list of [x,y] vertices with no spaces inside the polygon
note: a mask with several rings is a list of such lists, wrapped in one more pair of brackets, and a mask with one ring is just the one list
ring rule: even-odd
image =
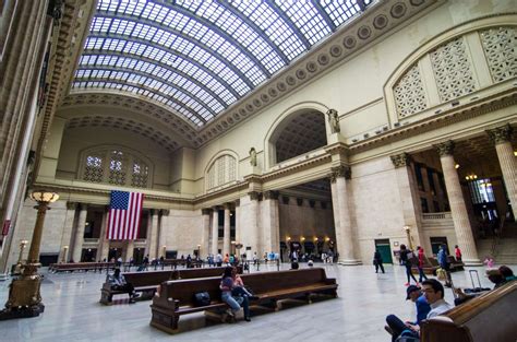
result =
[{"label": "American flag hanging vertically on the far wall", "polygon": [[108,239],[134,240],[139,236],[143,201],[143,193],[111,191],[106,234]]}]

